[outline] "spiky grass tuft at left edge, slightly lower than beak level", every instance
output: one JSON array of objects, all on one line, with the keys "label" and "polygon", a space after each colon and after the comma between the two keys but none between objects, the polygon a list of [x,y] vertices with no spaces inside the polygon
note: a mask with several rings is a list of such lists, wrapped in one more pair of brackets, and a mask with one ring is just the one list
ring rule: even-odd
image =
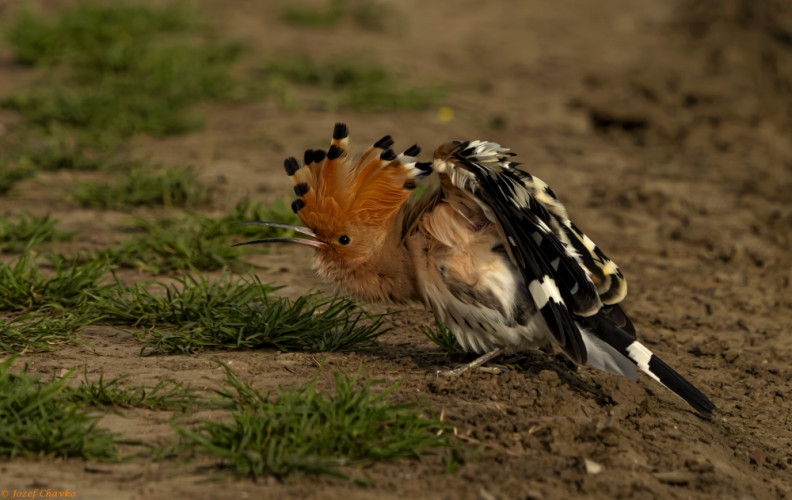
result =
[{"label": "spiky grass tuft at left edge, slightly lower than beak level", "polygon": [[0,310],[86,311],[92,297],[107,285],[99,281],[107,273],[102,261],[85,264],[55,263],[53,276],[45,278],[30,253],[10,263],[0,264]]}]

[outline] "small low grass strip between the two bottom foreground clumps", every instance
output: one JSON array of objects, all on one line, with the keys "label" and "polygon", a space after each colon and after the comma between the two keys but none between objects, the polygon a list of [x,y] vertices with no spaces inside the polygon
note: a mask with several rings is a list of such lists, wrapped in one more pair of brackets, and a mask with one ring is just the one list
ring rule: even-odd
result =
[{"label": "small low grass strip between the two bottom foreground clumps", "polygon": [[[202,405],[197,390],[184,387],[175,380],[162,380],[154,386],[124,386],[126,376],[105,381],[104,373],[99,380],[88,380],[87,368],[83,373],[83,382],[78,387],[65,391],[65,398],[80,406],[93,406],[100,409],[108,408],[148,408],[150,410],[179,410]],[[205,406],[205,404],[204,404]]]}]

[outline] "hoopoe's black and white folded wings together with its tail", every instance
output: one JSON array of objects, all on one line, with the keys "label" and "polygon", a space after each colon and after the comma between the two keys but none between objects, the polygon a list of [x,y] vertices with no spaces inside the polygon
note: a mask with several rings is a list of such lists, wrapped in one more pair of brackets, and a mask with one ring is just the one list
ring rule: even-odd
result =
[{"label": "hoopoe's black and white folded wings together with its tail", "polygon": [[435,152],[435,169],[498,225],[555,342],[572,360],[637,380],[634,366],[703,416],[715,405],[635,340],[618,303],[627,283],[616,264],[578,229],[550,187],[517,168],[507,148],[455,141]]}]

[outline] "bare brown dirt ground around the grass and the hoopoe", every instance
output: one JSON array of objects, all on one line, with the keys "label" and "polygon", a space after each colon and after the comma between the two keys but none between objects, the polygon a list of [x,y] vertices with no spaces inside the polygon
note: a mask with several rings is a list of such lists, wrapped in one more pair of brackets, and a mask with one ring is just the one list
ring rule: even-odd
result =
[{"label": "bare brown dirt ground around the grass and the hoopoe", "polygon": [[[54,8],[54,3],[37,2]],[[8,4],[8,2],[2,2]],[[361,148],[392,134],[429,151],[486,138],[511,147],[622,268],[625,305],[642,341],[707,393],[712,421],[646,377],[638,384],[560,357],[530,353],[500,375],[442,379],[449,362],[419,327],[395,315],[373,354],[326,355],[330,366],[403,380],[399,401],[444,412],[480,453],[453,475],[439,459],[383,463],[375,486],[327,478],[207,481],[196,465],[132,460],[0,463],[3,486],[70,488],[79,498],[789,498],[792,495],[792,12],[780,0],[382,2],[382,31],[343,23],[295,29],[277,5],[204,0],[224,35],[254,53],[358,56],[416,82],[451,85],[451,122],[427,112],[356,114],[279,109],[272,101],[214,106],[205,130],[139,139],[158,161],[192,162],[218,176],[228,205],[290,191],[282,159],[323,147],[346,122]],[[786,9],[786,11],[785,11]],[[8,55],[0,91],[24,85]],[[13,120],[3,114],[6,123]],[[0,122],[2,123],[2,122]],[[77,209],[51,192],[76,174],[27,181],[0,210],[54,212],[91,227],[87,247],[118,240],[120,213]],[[49,193],[49,194],[48,194]],[[47,194],[45,199],[42,198]],[[257,256],[264,281],[290,294],[329,289],[311,252]],[[133,277],[134,278],[134,277]],[[140,277],[142,279],[143,277]],[[23,356],[43,373],[88,366],[130,383],[217,382],[219,356],[263,388],[317,375],[311,353],[204,352],[139,357],[139,342],[107,328],[84,335],[96,352],[63,347]],[[326,371],[322,374],[328,378]],[[172,437],[170,415],[135,410],[102,425],[152,443]],[[200,416],[200,415],[199,415]],[[598,473],[586,462],[601,466]],[[589,462],[589,463],[590,463]],[[596,468],[596,467],[595,467]]]}]

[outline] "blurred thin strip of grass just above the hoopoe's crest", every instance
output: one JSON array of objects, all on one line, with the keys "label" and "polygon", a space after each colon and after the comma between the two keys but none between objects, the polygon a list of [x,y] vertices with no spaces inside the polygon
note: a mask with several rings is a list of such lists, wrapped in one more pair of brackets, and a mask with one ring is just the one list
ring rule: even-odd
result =
[{"label": "blurred thin strip of grass just above the hoopoe's crest", "polygon": [[422,110],[445,96],[442,87],[407,86],[381,66],[348,60],[317,64],[308,58],[276,59],[262,72],[273,88],[284,82],[319,87],[322,101],[317,104],[328,111]]}]

